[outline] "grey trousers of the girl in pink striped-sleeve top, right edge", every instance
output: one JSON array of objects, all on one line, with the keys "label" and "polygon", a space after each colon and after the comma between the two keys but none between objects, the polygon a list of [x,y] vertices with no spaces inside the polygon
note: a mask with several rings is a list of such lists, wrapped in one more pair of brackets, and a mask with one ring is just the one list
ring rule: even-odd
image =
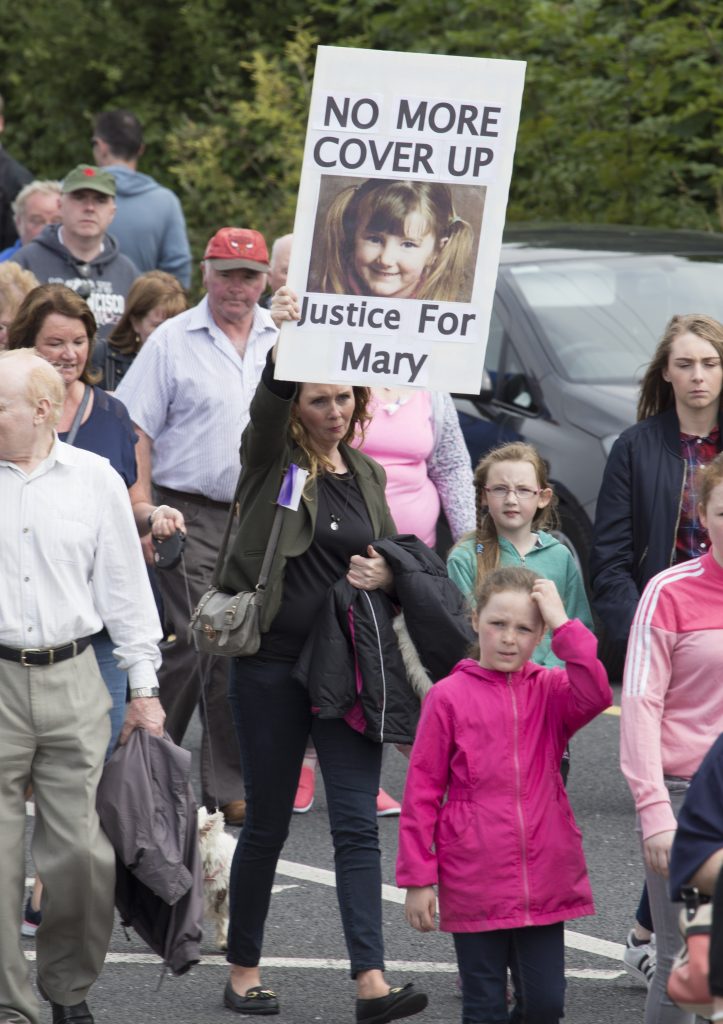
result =
[{"label": "grey trousers of the girl in pink striped-sleeve top, right edge", "polygon": [[[688,788],[687,782],[668,782],[671,805],[675,816],[682,806]],[[668,879],[645,868],[645,881],[650,899],[650,913],[655,932],[655,974],[645,1000],[645,1024],[694,1024],[695,1014],[680,1010],[668,998],[666,986],[673,961],[680,951],[683,940],[680,937],[678,915],[682,903],[673,903],[670,898]]]}]

